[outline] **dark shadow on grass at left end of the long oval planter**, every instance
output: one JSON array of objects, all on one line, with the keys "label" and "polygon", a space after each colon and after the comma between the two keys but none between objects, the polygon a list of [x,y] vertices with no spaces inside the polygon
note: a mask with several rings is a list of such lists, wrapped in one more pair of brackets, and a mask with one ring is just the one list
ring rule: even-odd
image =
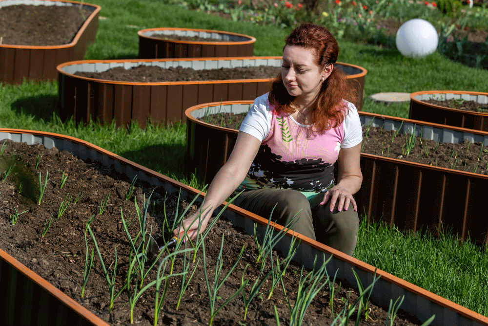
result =
[{"label": "dark shadow on grass at left end of the long oval planter", "polygon": [[37,120],[49,121],[53,112],[59,115],[57,95],[36,95],[20,98],[12,102],[11,107],[17,114],[32,115]]}]

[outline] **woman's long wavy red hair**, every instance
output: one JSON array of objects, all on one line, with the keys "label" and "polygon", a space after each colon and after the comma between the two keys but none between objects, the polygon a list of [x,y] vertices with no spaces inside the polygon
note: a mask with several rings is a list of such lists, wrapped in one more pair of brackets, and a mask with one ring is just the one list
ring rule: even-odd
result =
[{"label": "woman's long wavy red hair", "polygon": [[[321,69],[335,64],[339,55],[339,45],[332,34],[325,27],[310,23],[302,23],[295,28],[285,39],[286,45],[314,49],[317,56],[316,63]],[[271,85],[269,103],[274,104],[278,112],[291,114],[295,111],[291,106],[294,99],[294,96],[288,94],[280,73]],[[341,69],[333,68],[330,76],[322,83],[311,113],[315,132],[335,128],[343,122],[347,113],[347,106],[343,99],[355,103],[357,94],[346,79],[346,74]]]}]

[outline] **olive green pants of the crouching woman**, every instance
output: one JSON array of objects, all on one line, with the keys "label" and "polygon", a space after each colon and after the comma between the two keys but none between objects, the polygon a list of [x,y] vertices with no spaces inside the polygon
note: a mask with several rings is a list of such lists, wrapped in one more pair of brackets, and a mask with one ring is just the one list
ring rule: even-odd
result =
[{"label": "olive green pants of the crouching woman", "polygon": [[352,256],[358,239],[358,213],[352,205],[347,211],[339,212],[337,204],[331,212],[330,200],[319,205],[323,198],[324,194],[307,199],[295,190],[266,188],[246,191],[234,200],[234,204],[283,226],[298,214],[291,227],[293,231]]}]

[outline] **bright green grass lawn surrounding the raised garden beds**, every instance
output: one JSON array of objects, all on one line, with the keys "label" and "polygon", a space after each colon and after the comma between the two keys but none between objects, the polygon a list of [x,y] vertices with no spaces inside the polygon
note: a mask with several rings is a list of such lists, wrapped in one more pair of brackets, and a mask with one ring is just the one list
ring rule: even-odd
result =
[{"label": "bright green grass lawn surrounding the raised garden beds", "polygon": [[[187,27],[225,30],[257,39],[254,55],[280,56],[290,29],[232,22],[215,15],[149,0],[94,0],[102,7],[96,42],[85,59],[137,58],[137,31],[151,27]],[[136,26],[136,27],[134,27]],[[451,62],[440,53],[421,59],[402,56],[396,48],[339,42],[339,61],[368,70],[364,111],[408,116],[408,103],[385,106],[368,98],[377,92],[419,90],[487,91],[488,70]],[[58,84],[24,82],[0,85],[0,126],[61,133],[83,139],[156,172],[201,189],[194,178],[183,174],[185,126],[137,125],[116,129],[114,124],[91,122],[76,126],[62,123],[56,115]],[[408,235],[380,225],[362,225],[356,257],[408,282],[421,286],[469,309],[488,316],[486,307],[488,261],[484,251],[460,246],[446,237],[442,241]]]}]

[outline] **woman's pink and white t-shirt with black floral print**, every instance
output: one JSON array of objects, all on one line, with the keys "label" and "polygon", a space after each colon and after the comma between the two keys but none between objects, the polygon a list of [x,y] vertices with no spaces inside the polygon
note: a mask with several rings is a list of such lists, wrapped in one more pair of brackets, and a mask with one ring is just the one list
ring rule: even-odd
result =
[{"label": "woman's pink and white t-shirt with black floral print", "polygon": [[261,147],[237,191],[294,189],[308,198],[333,187],[339,151],[363,140],[358,111],[352,103],[347,107],[341,125],[307,137],[310,126],[278,113],[268,93],[256,98],[239,131],[258,138]]}]

